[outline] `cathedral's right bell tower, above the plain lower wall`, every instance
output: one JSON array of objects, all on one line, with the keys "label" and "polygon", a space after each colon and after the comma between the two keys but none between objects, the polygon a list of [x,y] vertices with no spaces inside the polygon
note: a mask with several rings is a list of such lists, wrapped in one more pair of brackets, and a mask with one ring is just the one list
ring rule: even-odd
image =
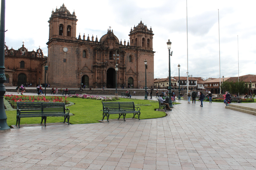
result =
[{"label": "cathedral's right bell tower, above the plain lower wall", "polygon": [[131,28],[130,31],[130,45],[139,47],[144,50],[153,50],[153,31],[147,28],[147,25],[144,25],[142,21],[137,25],[137,27]]}]

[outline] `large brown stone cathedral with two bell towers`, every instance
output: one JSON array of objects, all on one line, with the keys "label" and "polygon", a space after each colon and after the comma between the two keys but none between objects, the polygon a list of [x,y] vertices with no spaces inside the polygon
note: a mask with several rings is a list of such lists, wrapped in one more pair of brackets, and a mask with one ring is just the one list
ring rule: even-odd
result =
[{"label": "large brown stone cathedral with two bell towers", "polygon": [[[111,27],[99,40],[92,35],[76,38],[75,12],[63,4],[52,11],[49,22],[47,82],[51,87],[138,88],[154,83],[153,31],[140,23],[122,42]],[[129,43],[130,42],[130,43]],[[119,55],[119,56],[118,56]],[[147,60],[145,66],[144,60]],[[118,71],[116,71],[118,68]]]}]

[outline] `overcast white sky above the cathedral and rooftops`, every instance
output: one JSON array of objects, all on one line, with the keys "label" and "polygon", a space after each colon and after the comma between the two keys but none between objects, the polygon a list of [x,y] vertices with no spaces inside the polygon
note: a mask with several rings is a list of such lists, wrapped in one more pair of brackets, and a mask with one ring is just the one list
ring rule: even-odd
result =
[{"label": "overcast white sky above the cathedral and rooftops", "polygon": [[[168,39],[172,42],[171,76],[187,76],[186,0],[6,0],[5,42],[9,49],[32,51],[39,45],[47,56],[52,10],[62,4],[77,16],[76,36],[96,35],[109,26],[119,41],[129,40],[131,27],[142,20],[152,27],[154,78],[168,76]],[[256,74],[256,1],[188,0],[188,72],[193,77],[219,78]],[[219,25],[218,25],[219,9]],[[220,28],[220,67],[219,67]],[[239,49],[239,50],[238,50]]]}]

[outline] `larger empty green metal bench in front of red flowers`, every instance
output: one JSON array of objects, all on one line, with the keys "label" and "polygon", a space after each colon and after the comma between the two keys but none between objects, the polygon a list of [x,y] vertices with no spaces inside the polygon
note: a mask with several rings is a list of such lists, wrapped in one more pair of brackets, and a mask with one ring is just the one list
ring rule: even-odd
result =
[{"label": "larger empty green metal bench in front of red flowers", "polygon": [[16,126],[20,118],[42,117],[41,124],[44,120],[46,126],[47,116],[64,116],[64,122],[69,125],[69,109],[66,109],[65,103],[55,102],[17,102]]}]

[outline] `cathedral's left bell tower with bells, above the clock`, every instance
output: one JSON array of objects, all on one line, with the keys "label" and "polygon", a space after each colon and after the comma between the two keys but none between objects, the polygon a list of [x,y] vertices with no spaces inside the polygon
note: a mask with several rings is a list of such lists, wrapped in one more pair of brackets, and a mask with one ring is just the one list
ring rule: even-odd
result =
[{"label": "cathedral's left bell tower with bells, above the clock", "polygon": [[76,19],[75,11],[71,14],[63,4],[55,12],[52,10],[49,23],[49,41],[54,38],[76,40]]}]

